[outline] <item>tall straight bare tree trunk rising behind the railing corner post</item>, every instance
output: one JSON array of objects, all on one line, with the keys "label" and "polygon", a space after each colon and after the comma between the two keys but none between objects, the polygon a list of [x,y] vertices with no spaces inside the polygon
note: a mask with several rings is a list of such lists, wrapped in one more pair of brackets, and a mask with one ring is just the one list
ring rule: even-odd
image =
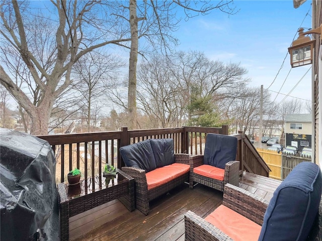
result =
[{"label": "tall straight bare tree trunk rising behind the railing corner post", "polygon": [[130,28],[131,28],[131,50],[129,59],[129,86],[128,86],[128,114],[129,129],[133,130],[137,127],[136,113],[136,66],[138,55],[138,30],[136,16],[136,0],[130,0]]}]

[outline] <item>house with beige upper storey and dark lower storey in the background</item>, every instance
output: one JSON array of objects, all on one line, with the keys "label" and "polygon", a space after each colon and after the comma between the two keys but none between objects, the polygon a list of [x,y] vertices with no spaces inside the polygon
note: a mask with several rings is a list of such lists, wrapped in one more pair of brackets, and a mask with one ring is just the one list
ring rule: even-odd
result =
[{"label": "house with beige upper storey and dark lower storey in the background", "polygon": [[312,114],[287,114],[284,128],[285,146],[312,147]]}]

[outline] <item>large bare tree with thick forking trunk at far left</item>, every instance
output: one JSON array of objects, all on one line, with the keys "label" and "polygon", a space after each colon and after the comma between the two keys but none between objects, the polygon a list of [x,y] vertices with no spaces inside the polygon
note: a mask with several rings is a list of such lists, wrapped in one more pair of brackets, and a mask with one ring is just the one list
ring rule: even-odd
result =
[{"label": "large bare tree with thick forking trunk at far left", "polygon": [[[31,134],[41,135],[48,132],[55,99],[72,82],[73,64],[95,49],[130,39],[115,17],[111,21],[113,2],[43,2],[54,11],[50,18],[30,12],[30,3],[2,1],[0,82],[31,117]],[[20,83],[11,71],[17,59],[27,71]]]}]

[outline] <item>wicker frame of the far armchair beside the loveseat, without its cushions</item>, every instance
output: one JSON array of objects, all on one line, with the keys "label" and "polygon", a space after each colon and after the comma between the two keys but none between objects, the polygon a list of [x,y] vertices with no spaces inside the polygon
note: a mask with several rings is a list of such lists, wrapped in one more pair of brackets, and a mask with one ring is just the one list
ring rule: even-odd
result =
[{"label": "wicker frame of the far armchair beside the loveseat, without its cushions", "polygon": [[189,187],[191,189],[193,188],[193,182],[203,184],[207,187],[211,187],[219,191],[223,191],[224,186],[227,183],[230,183],[235,186],[239,186],[239,162],[230,161],[226,163],[223,181],[194,173],[193,169],[201,165],[203,165],[203,155],[191,156],[190,182],[189,182],[190,183]]}]

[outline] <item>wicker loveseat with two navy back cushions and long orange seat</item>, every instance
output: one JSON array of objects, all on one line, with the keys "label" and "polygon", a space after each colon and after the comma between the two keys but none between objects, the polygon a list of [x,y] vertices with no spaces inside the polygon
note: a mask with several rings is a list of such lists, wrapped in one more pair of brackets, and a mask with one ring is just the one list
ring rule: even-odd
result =
[{"label": "wicker loveseat with two navy back cushions and long orange seat", "polygon": [[135,205],[149,213],[149,201],[189,182],[190,157],[174,154],[173,139],[148,139],[120,148],[122,171],[135,180]]}]

